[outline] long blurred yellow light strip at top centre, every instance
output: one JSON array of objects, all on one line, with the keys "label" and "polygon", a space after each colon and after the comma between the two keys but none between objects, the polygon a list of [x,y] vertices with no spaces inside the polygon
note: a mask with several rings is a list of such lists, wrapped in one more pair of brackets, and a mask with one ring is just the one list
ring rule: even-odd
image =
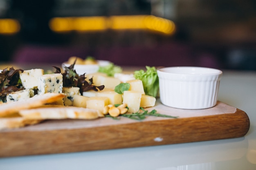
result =
[{"label": "long blurred yellow light strip at top centre", "polygon": [[173,34],[175,31],[175,24],[171,20],[153,15],[52,18],[49,22],[49,27],[56,32],[144,29]]}]

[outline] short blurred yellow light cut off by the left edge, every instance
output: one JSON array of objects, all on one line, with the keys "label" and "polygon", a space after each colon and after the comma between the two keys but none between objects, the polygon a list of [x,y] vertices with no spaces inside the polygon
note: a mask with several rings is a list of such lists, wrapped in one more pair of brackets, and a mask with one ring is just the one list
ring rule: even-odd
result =
[{"label": "short blurred yellow light cut off by the left edge", "polygon": [[0,34],[15,34],[20,31],[20,23],[14,19],[0,19]]}]

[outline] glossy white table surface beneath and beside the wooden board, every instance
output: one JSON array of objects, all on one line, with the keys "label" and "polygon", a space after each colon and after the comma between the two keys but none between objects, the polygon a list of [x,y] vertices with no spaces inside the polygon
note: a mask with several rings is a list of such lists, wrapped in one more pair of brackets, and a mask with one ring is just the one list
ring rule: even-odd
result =
[{"label": "glossy white table surface beneath and beside the wooden board", "polygon": [[1,158],[0,170],[256,170],[256,72],[223,71],[218,100],[247,113],[245,137]]}]

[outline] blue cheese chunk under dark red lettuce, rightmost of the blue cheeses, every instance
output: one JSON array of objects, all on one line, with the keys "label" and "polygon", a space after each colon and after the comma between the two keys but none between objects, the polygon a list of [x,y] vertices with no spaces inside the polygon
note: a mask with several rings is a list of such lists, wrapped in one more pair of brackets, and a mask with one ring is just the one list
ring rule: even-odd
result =
[{"label": "blue cheese chunk under dark red lettuce, rightmost of the blue cheeses", "polygon": [[63,87],[62,92],[65,94],[63,98],[65,106],[72,106],[74,95],[81,95],[79,87]]}]

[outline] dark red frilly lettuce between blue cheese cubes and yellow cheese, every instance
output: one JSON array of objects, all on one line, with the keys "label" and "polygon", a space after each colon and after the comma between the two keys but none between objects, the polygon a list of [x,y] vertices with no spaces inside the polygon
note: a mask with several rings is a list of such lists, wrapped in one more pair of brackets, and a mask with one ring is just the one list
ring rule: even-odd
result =
[{"label": "dark red frilly lettuce between blue cheese cubes and yellow cheese", "polygon": [[74,69],[74,65],[76,63],[76,60],[74,61],[73,64],[71,64],[70,66],[64,66],[65,68],[65,72],[61,73],[61,68],[58,68],[56,66],[53,66],[54,68],[56,68],[56,71],[54,73],[61,73],[63,75],[63,86],[64,87],[79,87],[80,88],[80,93],[82,94],[84,91],[88,91],[88,90],[94,90],[94,91],[98,91],[98,90],[103,90],[104,89],[104,85],[101,86],[94,86],[92,85],[92,78],[89,79],[89,82],[87,82],[85,80],[85,73],[83,75],[78,75],[76,73],[76,70]]}]

